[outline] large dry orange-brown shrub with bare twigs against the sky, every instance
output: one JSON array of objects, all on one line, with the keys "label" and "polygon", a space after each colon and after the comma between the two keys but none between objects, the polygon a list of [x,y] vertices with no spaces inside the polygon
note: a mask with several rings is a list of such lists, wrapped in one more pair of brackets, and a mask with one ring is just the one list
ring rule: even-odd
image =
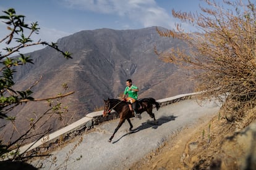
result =
[{"label": "large dry orange-brown shrub with bare twigs against the sky", "polygon": [[157,28],[160,36],[181,39],[188,48],[155,52],[164,62],[194,70],[197,90],[203,91],[203,97],[225,95],[224,117],[234,123],[245,118],[248,108],[255,107],[255,5],[250,1],[204,1],[209,8],[200,6],[196,14],[172,11],[174,17],[190,23],[197,32],[188,33],[179,24],[176,30]]}]

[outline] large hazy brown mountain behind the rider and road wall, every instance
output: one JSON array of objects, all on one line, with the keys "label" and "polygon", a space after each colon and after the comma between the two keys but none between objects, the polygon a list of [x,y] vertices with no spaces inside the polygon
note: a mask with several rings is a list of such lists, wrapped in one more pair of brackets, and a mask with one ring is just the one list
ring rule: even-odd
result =
[{"label": "large hazy brown mountain behind the rider and road wall", "polygon": [[[164,29],[164,28],[161,28]],[[34,84],[34,98],[58,95],[62,84],[68,91],[75,91],[61,100],[69,111],[64,121],[53,119],[42,127],[51,125],[53,130],[82,118],[95,108],[103,106],[103,99],[117,98],[131,78],[139,87],[139,98],[163,99],[192,92],[194,85],[187,79],[186,70],[171,63],[164,63],[154,52],[154,47],[166,51],[173,47],[186,47],[179,39],[163,38],[155,27],[139,30],[86,30],[58,40],[58,46],[69,51],[73,59],[66,60],[53,49],[46,47],[32,52],[34,65],[20,67],[15,74],[17,89],[23,90]],[[47,109],[47,102],[28,102],[14,110],[17,126],[25,126]],[[19,114],[17,114],[19,113]],[[56,116],[58,118],[58,116]],[[44,119],[45,120],[45,119]],[[3,131],[11,127],[8,124]]]}]

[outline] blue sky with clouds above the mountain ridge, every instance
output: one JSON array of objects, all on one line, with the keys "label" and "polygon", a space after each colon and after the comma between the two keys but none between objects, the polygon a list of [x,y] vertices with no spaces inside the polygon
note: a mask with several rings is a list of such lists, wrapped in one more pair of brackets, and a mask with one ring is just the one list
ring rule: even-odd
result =
[{"label": "blue sky with clouds above the mountain ridge", "polygon": [[[59,38],[81,30],[111,28],[139,29],[148,26],[174,28],[177,22],[171,10],[195,12],[200,0],[0,0],[0,10],[14,8],[25,15],[27,23],[38,22],[40,34],[34,37],[56,42]],[[2,15],[3,13],[1,13]],[[189,25],[184,24],[189,29]],[[0,38],[7,34],[0,23]],[[4,44],[5,45],[5,44]],[[0,44],[2,49],[2,44]],[[34,48],[29,51],[35,50]]]}]

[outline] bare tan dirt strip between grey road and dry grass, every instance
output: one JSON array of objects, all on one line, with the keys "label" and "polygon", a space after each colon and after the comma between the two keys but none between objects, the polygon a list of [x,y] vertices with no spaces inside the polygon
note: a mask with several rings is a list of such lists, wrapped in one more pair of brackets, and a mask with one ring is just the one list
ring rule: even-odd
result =
[{"label": "bare tan dirt strip between grey road and dry grass", "polygon": [[182,169],[184,166],[181,166],[181,159],[187,142],[196,132],[203,131],[203,127],[208,125],[211,118],[212,116],[205,116],[198,119],[194,125],[184,127],[176,136],[170,137],[163,147],[149,153],[134,163],[130,169]]}]

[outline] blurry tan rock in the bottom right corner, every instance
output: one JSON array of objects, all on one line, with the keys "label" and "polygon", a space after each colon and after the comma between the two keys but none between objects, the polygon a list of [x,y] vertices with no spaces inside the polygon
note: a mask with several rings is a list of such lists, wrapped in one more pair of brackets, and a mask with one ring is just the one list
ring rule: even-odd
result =
[{"label": "blurry tan rock in the bottom right corner", "polygon": [[[221,169],[256,169],[256,122],[228,137],[211,166]],[[221,163],[220,163],[221,162]]]}]

